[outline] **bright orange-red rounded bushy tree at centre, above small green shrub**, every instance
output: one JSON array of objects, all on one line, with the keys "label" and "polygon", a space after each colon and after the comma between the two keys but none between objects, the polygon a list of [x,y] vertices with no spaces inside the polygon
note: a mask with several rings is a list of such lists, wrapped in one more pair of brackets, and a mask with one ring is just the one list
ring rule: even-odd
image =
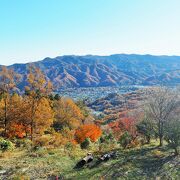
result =
[{"label": "bright orange-red rounded bushy tree at centre, above small green shrub", "polygon": [[82,143],[86,138],[95,142],[102,134],[101,129],[94,124],[85,124],[80,126],[75,132],[75,140]]}]

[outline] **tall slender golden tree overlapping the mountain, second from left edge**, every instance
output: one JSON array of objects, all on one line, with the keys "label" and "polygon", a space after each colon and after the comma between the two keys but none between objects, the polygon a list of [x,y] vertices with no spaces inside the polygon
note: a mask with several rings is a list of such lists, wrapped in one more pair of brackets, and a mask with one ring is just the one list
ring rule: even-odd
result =
[{"label": "tall slender golden tree overlapping the mountain, second from left edge", "polygon": [[[30,109],[30,126],[31,126],[31,141],[33,141],[33,135],[37,131],[36,127],[39,121],[37,118],[37,113],[40,109],[40,103],[42,103],[42,98],[48,97],[52,91],[52,84],[49,80],[46,79],[43,72],[31,65],[29,67],[29,73],[27,75],[27,81],[28,86],[25,87],[25,93],[28,97],[29,101],[29,109]],[[46,101],[46,106],[48,102]],[[49,107],[48,107],[49,108]],[[43,115],[45,112],[45,109],[41,112],[41,116],[43,116],[43,121],[46,121],[48,118],[46,118],[46,115]],[[42,120],[42,118],[41,118]]]}]

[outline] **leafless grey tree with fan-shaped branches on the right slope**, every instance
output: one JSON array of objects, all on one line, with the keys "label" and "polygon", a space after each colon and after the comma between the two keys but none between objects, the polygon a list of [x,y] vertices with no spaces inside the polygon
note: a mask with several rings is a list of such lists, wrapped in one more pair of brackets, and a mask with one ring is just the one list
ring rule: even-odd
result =
[{"label": "leafless grey tree with fan-shaped branches on the right slope", "polygon": [[157,126],[157,135],[163,145],[164,126],[179,108],[179,97],[175,90],[158,87],[152,90],[146,103],[146,113]]}]

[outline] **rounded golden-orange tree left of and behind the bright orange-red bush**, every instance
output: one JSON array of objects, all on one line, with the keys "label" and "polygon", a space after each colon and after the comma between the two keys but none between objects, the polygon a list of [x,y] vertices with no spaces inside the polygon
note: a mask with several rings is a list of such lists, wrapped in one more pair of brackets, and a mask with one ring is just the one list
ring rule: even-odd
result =
[{"label": "rounded golden-orange tree left of and behind the bright orange-red bush", "polygon": [[68,127],[70,130],[76,129],[84,119],[80,108],[70,98],[61,98],[55,101],[54,111],[54,128],[57,131],[62,130],[64,127]]}]

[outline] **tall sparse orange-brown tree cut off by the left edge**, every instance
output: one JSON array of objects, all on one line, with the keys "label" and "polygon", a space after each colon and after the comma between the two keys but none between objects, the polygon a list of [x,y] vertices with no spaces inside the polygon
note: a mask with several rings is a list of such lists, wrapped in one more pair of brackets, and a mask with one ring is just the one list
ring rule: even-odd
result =
[{"label": "tall sparse orange-brown tree cut off by the left edge", "polygon": [[19,75],[13,71],[13,69],[8,69],[5,66],[1,66],[1,71],[0,71],[0,97],[2,103],[4,103],[3,107],[3,128],[4,128],[4,133],[6,134],[7,132],[7,124],[8,124],[8,108],[10,104],[10,94],[12,91],[15,89],[18,80],[19,80]]}]

